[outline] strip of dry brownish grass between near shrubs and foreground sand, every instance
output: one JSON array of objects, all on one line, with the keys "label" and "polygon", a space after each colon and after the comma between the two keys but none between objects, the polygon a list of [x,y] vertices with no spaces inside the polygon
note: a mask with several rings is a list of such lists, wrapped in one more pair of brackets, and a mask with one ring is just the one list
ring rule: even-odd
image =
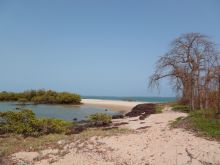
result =
[{"label": "strip of dry brownish grass between near shrubs and foreground sand", "polygon": [[60,140],[65,140],[66,142],[71,143],[77,140],[85,141],[93,136],[113,136],[126,133],[132,133],[132,131],[121,128],[112,128],[106,130],[103,128],[90,128],[80,134],[50,134],[37,138],[24,138],[21,135],[8,134],[5,136],[0,136],[0,158],[7,157],[10,154],[18,151],[40,151],[48,148],[59,149],[60,147],[62,147],[62,145],[59,145],[57,143]]}]

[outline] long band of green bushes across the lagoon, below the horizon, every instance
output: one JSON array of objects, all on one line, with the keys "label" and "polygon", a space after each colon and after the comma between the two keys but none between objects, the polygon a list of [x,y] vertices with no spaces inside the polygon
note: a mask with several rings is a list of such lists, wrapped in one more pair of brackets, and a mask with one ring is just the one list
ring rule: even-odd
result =
[{"label": "long band of green bushes across the lagoon, below the horizon", "polygon": [[52,90],[30,90],[21,93],[0,92],[0,101],[32,102],[35,104],[80,104],[78,94]]}]

